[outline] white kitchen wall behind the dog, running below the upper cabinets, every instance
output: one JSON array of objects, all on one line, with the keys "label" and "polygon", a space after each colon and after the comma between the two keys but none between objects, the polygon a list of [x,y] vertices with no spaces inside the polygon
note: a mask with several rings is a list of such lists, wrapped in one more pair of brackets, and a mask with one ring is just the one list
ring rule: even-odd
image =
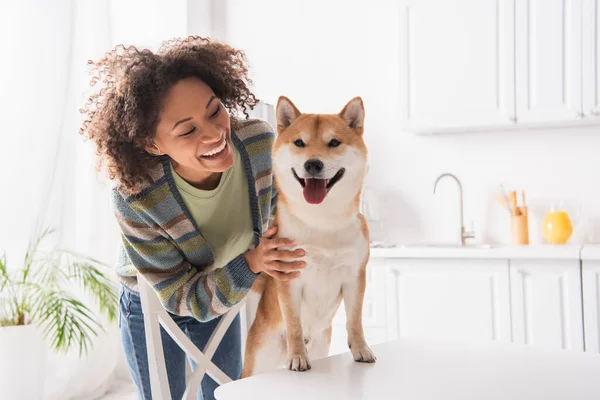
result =
[{"label": "white kitchen wall behind the dog, running below the upper cabinets", "polygon": [[[531,205],[566,197],[581,201],[586,221],[600,216],[595,179],[600,127],[442,137],[418,137],[398,129],[395,1],[229,0],[227,15],[226,39],[247,52],[262,99],[276,102],[286,95],[301,111],[338,112],[353,96],[363,97],[371,154],[367,186],[386,219],[383,233],[374,232],[379,238],[455,239],[458,191],[448,181],[440,184],[437,195],[432,193],[435,178],[443,172],[461,179],[465,222],[468,227],[474,221],[479,242],[510,240],[508,214],[493,200],[501,183],[526,189]],[[532,209],[542,216],[544,211],[543,206]],[[540,225],[541,217],[532,215],[532,243],[543,241]],[[587,240],[589,230],[580,223],[571,242]]]}]

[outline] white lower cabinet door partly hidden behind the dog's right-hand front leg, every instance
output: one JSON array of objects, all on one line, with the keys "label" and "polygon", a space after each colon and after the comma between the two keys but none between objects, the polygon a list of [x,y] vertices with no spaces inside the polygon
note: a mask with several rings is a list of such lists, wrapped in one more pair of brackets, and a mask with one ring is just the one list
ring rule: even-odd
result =
[{"label": "white lower cabinet door partly hidden behind the dog's right-hand front leg", "polygon": [[[363,302],[363,330],[369,345],[383,343],[388,338],[385,304],[385,259],[371,258],[367,266],[367,287]],[[344,302],[333,318],[329,354],[349,351]]]}]

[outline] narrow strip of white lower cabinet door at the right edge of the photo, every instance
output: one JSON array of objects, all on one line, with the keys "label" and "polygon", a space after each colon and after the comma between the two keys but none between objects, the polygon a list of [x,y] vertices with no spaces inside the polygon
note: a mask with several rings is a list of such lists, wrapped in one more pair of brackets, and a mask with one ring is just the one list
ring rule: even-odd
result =
[{"label": "narrow strip of white lower cabinet door at the right edge of the photo", "polygon": [[585,350],[600,353],[600,261],[583,261]]}]

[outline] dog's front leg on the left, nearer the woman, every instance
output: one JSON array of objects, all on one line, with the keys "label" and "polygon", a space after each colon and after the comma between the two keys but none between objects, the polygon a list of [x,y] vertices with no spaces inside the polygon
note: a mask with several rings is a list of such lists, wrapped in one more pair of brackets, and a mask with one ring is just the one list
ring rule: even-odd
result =
[{"label": "dog's front leg on the left, nearer the woman", "polygon": [[287,337],[288,368],[292,371],[309,370],[310,361],[304,344],[304,333],[302,332],[300,319],[302,286],[294,281],[278,282],[278,284],[279,303]]}]

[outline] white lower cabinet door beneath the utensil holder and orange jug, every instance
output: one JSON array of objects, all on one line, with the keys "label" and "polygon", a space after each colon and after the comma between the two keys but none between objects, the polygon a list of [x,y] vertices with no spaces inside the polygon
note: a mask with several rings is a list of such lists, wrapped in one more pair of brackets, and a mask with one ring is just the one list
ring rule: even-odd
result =
[{"label": "white lower cabinet door beneath the utensil holder and orange jug", "polygon": [[579,261],[511,260],[515,343],[583,350]]}]

